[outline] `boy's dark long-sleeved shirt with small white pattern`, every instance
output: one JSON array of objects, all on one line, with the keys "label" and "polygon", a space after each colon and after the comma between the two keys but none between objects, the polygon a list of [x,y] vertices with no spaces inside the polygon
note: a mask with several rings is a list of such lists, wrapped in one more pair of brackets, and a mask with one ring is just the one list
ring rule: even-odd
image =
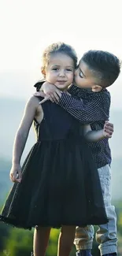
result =
[{"label": "boy's dark long-sleeved shirt with small white pattern", "polygon": [[[110,94],[102,90],[93,92],[72,85],[68,92],[63,92],[59,106],[68,111],[81,124],[91,124],[91,129],[98,131],[103,129],[105,121],[109,120]],[[111,163],[111,152],[107,138],[95,143],[88,143],[91,147],[97,168]]]}]

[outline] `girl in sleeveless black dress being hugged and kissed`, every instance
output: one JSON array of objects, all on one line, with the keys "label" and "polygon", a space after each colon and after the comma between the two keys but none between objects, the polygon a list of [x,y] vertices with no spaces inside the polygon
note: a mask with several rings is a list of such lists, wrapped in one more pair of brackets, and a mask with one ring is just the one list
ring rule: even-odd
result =
[{"label": "girl in sleeveless black dress being hugged and kissed", "polygon": [[[53,44],[43,54],[43,76],[65,91],[72,83],[76,63],[71,46]],[[41,99],[33,96],[28,100],[17,131],[10,170],[10,179],[15,184],[2,209],[1,220],[20,228],[35,227],[35,256],[45,255],[50,228],[61,228],[57,255],[68,256],[76,225],[104,224],[108,220],[98,171],[83,128],[56,104],[47,101],[39,105]],[[20,158],[32,122],[37,142],[21,171]],[[90,133],[86,134],[91,139]],[[97,133],[96,138],[100,139]]]}]

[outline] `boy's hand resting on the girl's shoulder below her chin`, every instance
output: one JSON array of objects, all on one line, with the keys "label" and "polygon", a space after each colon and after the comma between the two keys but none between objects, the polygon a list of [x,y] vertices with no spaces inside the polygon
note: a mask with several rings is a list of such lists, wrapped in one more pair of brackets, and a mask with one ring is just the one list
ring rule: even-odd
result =
[{"label": "boy's hand resting on the girl's shoulder below her chin", "polygon": [[34,96],[41,96],[44,98],[39,104],[42,104],[47,100],[57,103],[61,98],[61,91],[54,84],[45,82],[41,87],[41,91],[36,92]]}]

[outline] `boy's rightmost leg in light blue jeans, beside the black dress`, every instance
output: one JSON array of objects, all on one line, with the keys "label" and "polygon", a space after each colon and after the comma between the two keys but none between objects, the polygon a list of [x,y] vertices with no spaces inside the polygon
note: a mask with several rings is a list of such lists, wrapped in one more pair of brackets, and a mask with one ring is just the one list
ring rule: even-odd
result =
[{"label": "boy's rightmost leg in light blue jeans, beside the black dress", "polygon": [[96,240],[99,245],[101,255],[117,253],[117,238],[116,238],[116,212],[115,207],[111,205],[111,170],[109,165],[98,169],[101,180],[102,193],[105,202],[105,210],[109,222],[99,225],[96,233]]}]

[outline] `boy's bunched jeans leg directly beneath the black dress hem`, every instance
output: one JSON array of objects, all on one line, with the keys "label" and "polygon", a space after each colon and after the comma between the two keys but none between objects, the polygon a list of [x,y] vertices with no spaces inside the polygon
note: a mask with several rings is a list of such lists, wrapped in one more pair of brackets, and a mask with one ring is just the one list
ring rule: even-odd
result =
[{"label": "boy's bunched jeans leg directly beneath the black dress hem", "polygon": [[91,250],[94,239],[94,227],[88,225],[85,228],[76,227],[76,237],[74,244],[76,250]]}]

